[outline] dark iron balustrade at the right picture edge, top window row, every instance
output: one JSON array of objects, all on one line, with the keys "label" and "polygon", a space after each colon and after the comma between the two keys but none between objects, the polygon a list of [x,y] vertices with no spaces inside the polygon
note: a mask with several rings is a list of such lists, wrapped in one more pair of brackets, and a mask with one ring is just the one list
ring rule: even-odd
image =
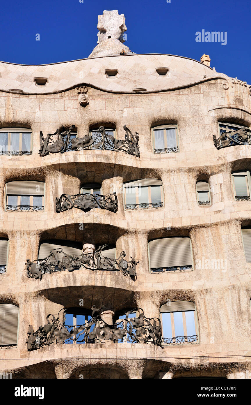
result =
[{"label": "dark iron balustrade at the right picture edge, top window row", "polygon": [[245,142],[251,142],[251,130],[245,126],[238,128],[233,132],[222,132],[219,138],[213,135],[213,143],[216,149],[226,148],[228,146],[244,145]]}]

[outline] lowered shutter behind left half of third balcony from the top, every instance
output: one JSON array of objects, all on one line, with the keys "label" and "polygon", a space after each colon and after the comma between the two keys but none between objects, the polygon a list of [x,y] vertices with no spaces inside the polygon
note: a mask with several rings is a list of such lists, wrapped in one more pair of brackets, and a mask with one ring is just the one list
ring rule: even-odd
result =
[{"label": "lowered shutter behind left half of third balcony from the top", "polygon": [[[41,243],[39,252],[38,252],[38,260],[45,259],[47,256],[51,254],[51,250],[61,248],[64,253],[70,254],[71,256],[82,254],[82,248],[80,243],[72,242],[72,241],[46,241]],[[62,260],[63,253],[59,253],[59,260]],[[51,260],[54,260],[51,258]]]}]

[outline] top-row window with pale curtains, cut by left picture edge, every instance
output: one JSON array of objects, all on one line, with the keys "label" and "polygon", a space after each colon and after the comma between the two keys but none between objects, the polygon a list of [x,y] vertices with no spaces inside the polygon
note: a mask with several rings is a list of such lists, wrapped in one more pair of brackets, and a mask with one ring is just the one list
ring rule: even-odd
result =
[{"label": "top-row window with pale curtains, cut by left picture edge", "polygon": [[32,131],[26,128],[0,129],[0,155],[31,155]]}]

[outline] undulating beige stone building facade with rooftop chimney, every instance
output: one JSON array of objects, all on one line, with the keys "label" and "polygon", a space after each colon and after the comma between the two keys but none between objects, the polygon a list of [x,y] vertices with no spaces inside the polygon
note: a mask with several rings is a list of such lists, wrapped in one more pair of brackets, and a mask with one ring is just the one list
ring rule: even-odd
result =
[{"label": "undulating beige stone building facade with rooftop chimney", "polygon": [[[99,43],[89,58],[39,66],[0,62],[0,128],[8,134],[1,138],[8,139],[4,147],[10,147],[15,128],[32,133],[31,153],[4,153],[1,146],[0,237],[8,241],[8,257],[0,274],[0,308],[15,305],[19,315],[17,345],[2,340],[0,371],[13,378],[249,378],[251,263],[241,229],[251,228],[251,203],[250,198],[236,200],[232,173],[251,168],[251,86],[216,72],[207,58],[201,63],[135,54],[123,44],[124,16],[116,11],[99,16],[98,29]],[[245,128],[247,140],[238,133],[238,141],[219,138],[219,122]],[[53,145],[49,139],[66,139],[55,134],[57,128],[59,134],[65,128],[67,137],[73,125],[72,132],[84,140],[82,148],[48,148]],[[154,153],[153,128],[172,125],[178,150]],[[91,131],[100,127],[121,140],[117,149],[89,146]],[[123,184],[142,179],[162,184],[163,204],[125,209]],[[8,209],[15,199],[8,204],[6,190],[14,181],[44,183],[43,208],[31,209],[36,204],[29,200],[26,209]],[[198,182],[209,184],[209,204],[199,204]],[[110,194],[108,203],[117,198],[117,210],[72,207],[68,196],[90,183],[100,184],[103,196]],[[57,212],[55,201],[62,195],[59,206],[65,209]],[[148,243],[160,238],[190,238],[191,271],[177,266],[150,271]],[[127,262],[130,257],[139,261],[128,265],[137,277],[85,266],[40,277],[38,252],[48,240],[84,245],[90,257],[99,245],[116,245],[117,256],[124,251]],[[27,258],[38,264],[38,277],[34,272],[27,277]],[[224,265],[206,265],[208,260]],[[118,262],[114,267],[118,270]],[[29,263],[27,268],[32,272]],[[82,308],[100,309],[99,319],[108,325],[122,311],[141,308],[146,319],[159,319],[166,303],[194,303],[197,340],[160,345],[151,339],[82,345],[54,341],[40,347],[37,339],[36,350],[27,350],[29,325],[36,331],[52,322],[46,321],[48,314],[57,318],[63,308],[79,308],[80,300]],[[8,325],[6,316],[1,319]]]}]

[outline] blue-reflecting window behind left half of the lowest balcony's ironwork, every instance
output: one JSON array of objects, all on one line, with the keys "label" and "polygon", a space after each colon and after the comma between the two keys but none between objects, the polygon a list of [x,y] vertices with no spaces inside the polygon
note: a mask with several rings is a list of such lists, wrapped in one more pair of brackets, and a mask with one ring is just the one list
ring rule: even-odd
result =
[{"label": "blue-reflecting window behind left half of the lowest balcony's ironwork", "polygon": [[[88,309],[79,309],[79,308],[68,308],[65,313],[65,322],[64,326],[70,332],[74,327],[84,325],[86,322],[91,320],[91,311]],[[92,332],[94,328],[94,324],[91,326],[89,333]],[[77,339],[76,341],[72,339]],[[67,339],[64,341],[65,344],[71,343],[84,343],[82,340],[84,339],[84,332],[81,331],[77,335],[74,335],[72,339]]]}]

